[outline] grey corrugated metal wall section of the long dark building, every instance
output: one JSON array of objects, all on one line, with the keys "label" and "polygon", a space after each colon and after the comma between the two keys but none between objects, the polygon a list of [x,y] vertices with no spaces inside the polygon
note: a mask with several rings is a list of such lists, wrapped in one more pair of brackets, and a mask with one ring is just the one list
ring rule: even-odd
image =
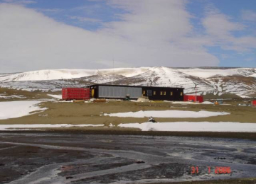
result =
[{"label": "grey corrugated metal wall section of the long dark building", "polygon": [[119,86],[99,86],[99,98],[139,98],[142,96],[142,88],[119,87]]}]

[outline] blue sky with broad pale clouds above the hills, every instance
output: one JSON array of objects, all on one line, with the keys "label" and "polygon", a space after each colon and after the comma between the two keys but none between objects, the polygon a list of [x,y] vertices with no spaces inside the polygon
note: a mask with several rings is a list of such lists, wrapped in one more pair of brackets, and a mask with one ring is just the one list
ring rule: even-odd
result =
[{"label": "blue sky with broad pale clouds above the hills", "polygon": [[256,1],[0,0],[0,64],[256,67]]}]

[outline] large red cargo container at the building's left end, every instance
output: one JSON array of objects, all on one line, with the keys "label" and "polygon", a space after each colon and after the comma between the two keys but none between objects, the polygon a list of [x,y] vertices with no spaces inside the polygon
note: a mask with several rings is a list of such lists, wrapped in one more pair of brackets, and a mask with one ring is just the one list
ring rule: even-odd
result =
[{"label": "large red cargo container at the building's left end", "polygon": [[63,88],[63,100],[89,100],[90,88]]}]

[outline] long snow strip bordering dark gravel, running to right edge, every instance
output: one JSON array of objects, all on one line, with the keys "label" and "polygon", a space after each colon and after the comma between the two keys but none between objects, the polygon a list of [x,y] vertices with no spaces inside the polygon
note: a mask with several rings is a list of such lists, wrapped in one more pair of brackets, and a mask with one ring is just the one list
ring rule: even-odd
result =
[{"label": "long snow strip bordering dark gravel, running to right edge", "polygon": [[143,122],[120,124],[118,127],[139,128],[142,131],[256,132],[256,123],[240,122]]}]

